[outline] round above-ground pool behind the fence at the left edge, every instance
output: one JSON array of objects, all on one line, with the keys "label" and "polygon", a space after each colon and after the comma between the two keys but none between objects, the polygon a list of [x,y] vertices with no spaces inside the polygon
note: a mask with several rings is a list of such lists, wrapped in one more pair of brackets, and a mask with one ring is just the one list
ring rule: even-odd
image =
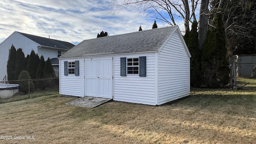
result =
[{"label": "round above-ground pool behind the fence at the left edge", "polygon": [[0,84],[0,98],[10,98],[19,92],[18,84]]}]

